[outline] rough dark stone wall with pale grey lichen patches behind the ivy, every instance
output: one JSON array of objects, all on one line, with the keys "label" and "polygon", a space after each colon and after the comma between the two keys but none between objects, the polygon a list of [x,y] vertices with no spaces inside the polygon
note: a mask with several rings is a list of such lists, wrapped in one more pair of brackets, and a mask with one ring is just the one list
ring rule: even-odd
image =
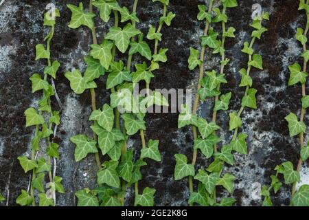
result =
[{"label": "rough dark stone wall with pale grey lichen patches behind the ivy", "polygon": [[[56,34],[52,41],[52,58],[61,63],[60,72],[56,79],[56,89],[63,102],[61,111],[61,126],[55,142],[60,145],[60,159],[57,162],[57,175],[63,177],[65,195],[58,195],[59,206],[75,206],[74,192],[81,188],[95,187],[95,159],[87,157],[82,162],[74,162],[74,146],[69,137],[78,133],[87,133],[91,136],[88,116],[91,112],[89,91],[81,96],[73,94],[64,73],[72,68],[84,70],[86,65],[83,56],[89,52],[91,34],[86,28],[70,30],[67,27],[70,12],[67,3],[78,4],[77,0],[65,1],[38,1],[6,0],[0,6],[0,190],[8,197],[8,205],[16,205],[16,197],[21,189],[27,188],[29,175],[25,175],[19,161],[19,155],[30,154],[30,140],[33,128],[25,128],[23,111],[30,106],[36,106],[39,94],[32,94],[28,78],[34,72],[42,73],[45,62],[34,61],[35,45],[43,43],[47,30],[43,28],[43,12],[47,3],[56,3],[61,18],[56,25]],[[88,1],[82,1],[88,5]],[[132,8],[133,1],[119,1],[122,5]],[[176,19],[170,28],[162,30],[163,41],[160,47],[168,47],[168,63],[161,65],[155,73],[151,88],[185,89],[194,88],[197,83],[198,72],[187,69],[189,47],[199,48],[199,36],[203,33],[204,24],[197,21],[198,0],[171,0],[168,9],[176,13]],[[274,173],[273,168],[286,160],[297,164],[299,157],[299,141],[296,137],[288,136],[287,123],[284,117],[289,113],[299,114],[301,107],[301,88],[299,85],[287,87],[288,65],[301,62],[301,45],[295,40],[297,27],[305,25],[305,16],[299,12],[298,1],[295,0],[239,0],[236,9],[228,10],[228,26],[236,28],[236,38],[228,39],[226,43],[227,57],[231,63],[227,65],[225,74],[229,83],[222,86],[222,92],[232,91],[230,111],[240,108],[240,99],[244,89],[238,87],[240,83],[239,69],[246,67],[247,56],[240,53],[244,41],[249,41],[251,28],[251,5],[260,3],[264,10],[271,13],[271,21],[265,23],[268,32],[261,41],[255,43],[255,51],[263,56],[264,70],[253,69],[253,87],[258,89],[258,109],[244,111],[242,131],[249,135],[249,154],[236,155],[235,166],[227,166],[228,171],[236,176],[235,192],[233,197],[237,205],[260,206],[261,199],[253,197],[257,183],[269,184],[269,176]],[[161,16],[158,3],[141,0],[139,2],[138,16],[141,23],[138,28],[146,34],[148,25],[157,25]],[[101,40],[108,28],[113,25],[95,19],[98,27],[98,37]],[[217,30],[220,29],[215,25]],[[100,41],[99,40],[99,41]],[[150,42],[150,47],[153,48]],[[126,59],[126,56],[117,55]],[[136,57],[133,63],[139,62]],[[216,54],[206,52],[205,69],[217,69],[220,58]],[[97,104],[109,102],[109,91],[105,89],[106,76],[98,81]],[[54,109],[58,109],[54,100]],[[210,118],[213,100],[201,104],[198,113]],[[223,144],[231,140],[228,131],[228,113],[218,114],[218,124],[222,127],[220,136]],[[185,206],[189,196],[188,181],[174,181],[174,154],[184,153],[192,157],[192,131],[191,129],[177,129],[177,113],[152,113],[146,117],[149,140],[159,139],[159,149],[162,153],[162,162],[148,162],[148,167],[142,169],[143,179],[140,189],[150,186],[157,190],[155,195],[156,206]],[[306,121],[308,124],[308,116]],[[139,155],[141,143],[136,135],[128,142],[129,147],[136,150],[135,157]],[[203,168],[209,161],[198,155],[196,168]],[[305,164],[301,170],[301,184],[309,183],[309,168]],[[224,195],[224,190],[218,188],[218,195]],[[126,205],[133,205],[133,189],[128,189]],[[273,195],[277,206],[288,205],[290,186],[284,186],[277,195]],[[1,205],[5,205],[2,203]]]}]

